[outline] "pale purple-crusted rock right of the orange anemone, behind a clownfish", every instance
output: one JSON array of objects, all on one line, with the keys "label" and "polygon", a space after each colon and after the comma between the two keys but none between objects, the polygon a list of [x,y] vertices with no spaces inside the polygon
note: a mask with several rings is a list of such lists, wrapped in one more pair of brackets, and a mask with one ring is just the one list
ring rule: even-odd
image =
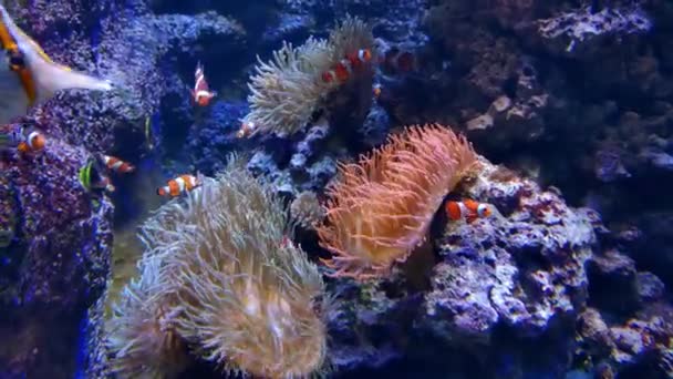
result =
[{"label": "pale purple-crusted rock right of the orange anemone, behind a clownfish", "polygon": [[495,205],[504,218],[447,224],[436,242],[442,260],[424,322],[447,336],[487,339],[498,324],[537,336],[586,301],[584,263],[596,242],[590,211],[572,209],[559,193],[501,167],[484,167],[462,194]]}]

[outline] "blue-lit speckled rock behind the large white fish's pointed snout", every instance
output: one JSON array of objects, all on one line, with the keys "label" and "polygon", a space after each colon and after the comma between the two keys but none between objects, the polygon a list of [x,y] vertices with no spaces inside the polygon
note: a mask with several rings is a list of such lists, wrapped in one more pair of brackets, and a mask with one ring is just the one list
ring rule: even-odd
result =
[{"label": "blue-lit speckled rock behind the large white fish's pointed snout", "polygon": [[[196,64],[197,42],[215,42],[226,54],[241,47],[244,34],[238,24],[215,12],[155,16],[143,1],[93,7],[80,0],[34,1],[12,11],[25,19],[29,34],[54,60],[110,79],[116,86],[106,93],[59,95],[32,114],[38,127],[92,151],[121,150],[126,160],[142,152],[145,117],[158,110],[162,98],[179,93],[188,101],[194,65],[186,70],[184,83],[173,76],[179,66],[168,54],[188,55]],[[64,40],[54,32],[58,28],[72,32]]]}]

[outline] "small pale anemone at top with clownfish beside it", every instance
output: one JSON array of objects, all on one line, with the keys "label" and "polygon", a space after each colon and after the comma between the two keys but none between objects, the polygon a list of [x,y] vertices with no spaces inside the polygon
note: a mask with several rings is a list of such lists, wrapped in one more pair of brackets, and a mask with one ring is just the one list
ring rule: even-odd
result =
[{"label": "small pale anemone at top with clownfish beside it", "polygon": [[298,48],[286,42],[268,63],[258,57],[257,74],[248,83],[250,113],[242,120],[249,125],[249,135],[273,133],[283,137],[303,130],[327,95],[340,85],[338,81],[321,80],[322,73],[346,54],[360,49],[371,51],[373,47],[371,28],[348,17],[328,40],[311,37]]}]

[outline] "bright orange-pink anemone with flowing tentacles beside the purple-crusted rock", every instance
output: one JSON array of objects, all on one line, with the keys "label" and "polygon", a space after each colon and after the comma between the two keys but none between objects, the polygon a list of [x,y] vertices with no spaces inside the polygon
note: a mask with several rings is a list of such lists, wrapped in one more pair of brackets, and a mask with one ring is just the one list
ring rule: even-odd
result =
[{"label": "bright orange-pink anemone with flowing tentacles beside the purple-crusted rock", "polygon": [[435,124],[406,127],[358,164],[341,164],[318,227],[333,254],[324,260],[331,275],[367,279],[405,260],[476,157],[464,137]]}]

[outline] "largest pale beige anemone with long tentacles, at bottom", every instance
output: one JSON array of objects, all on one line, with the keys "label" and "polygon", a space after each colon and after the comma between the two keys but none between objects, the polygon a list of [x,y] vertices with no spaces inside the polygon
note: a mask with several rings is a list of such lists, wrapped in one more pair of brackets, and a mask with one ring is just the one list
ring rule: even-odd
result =
[{"label": "largest pale beige anemone with long tentacles, at bottom", "polygon": [[161,262],[153,299],[176,300],[170,325],[197,355],[265,378],[323,368],[324,284],[290,225],[271,186],[235,157],[143,225],[143,262]]}]

